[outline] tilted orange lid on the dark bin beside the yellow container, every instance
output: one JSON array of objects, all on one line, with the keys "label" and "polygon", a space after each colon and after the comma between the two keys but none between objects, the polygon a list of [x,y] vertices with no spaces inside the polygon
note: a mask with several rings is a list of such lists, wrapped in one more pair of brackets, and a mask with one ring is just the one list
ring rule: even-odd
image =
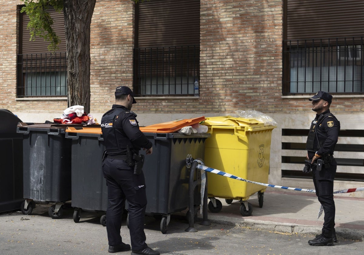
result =
[{"label": "tilted orange lid on the dark bin beside the yellow container", "polygon": [[140,127],[140,130],[143,133],[173,133],[182,127],[191,126],[205,120],[205,116],[192,119],[180,119],[178,121],[169,121],[146,127]]}]

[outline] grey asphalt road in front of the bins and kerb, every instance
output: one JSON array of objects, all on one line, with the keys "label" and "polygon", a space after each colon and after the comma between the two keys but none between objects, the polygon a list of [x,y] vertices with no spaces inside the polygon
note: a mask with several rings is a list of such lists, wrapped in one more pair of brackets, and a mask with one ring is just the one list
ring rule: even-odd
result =
[{"label": "grey asphalt road in front of the bins and kerb", "polygon": [[[79,223],[73,220],[73,209],[64,208],[61,219],[48,216],[50,205],[37,205],[32,215],[21,212],[0,214],[0,255],[92,255],[107,252],[106,227],[100,224],[103,213],[82,212]],[[331,247],[314,247],[307,241],[312,235],[288,234],[237,227],[211,222],[209,226],[195,223],[198,232],[186,232],[185,213],[172,215],[168,232],[160,232],[160,220],[146,217],[147,243],[161,254],[169,255],[363,255],[364,243],[340,238]],[[121,235],[125,243],[130,238],[123,219]],[[118,252],[115,254],[130,254]]]}]

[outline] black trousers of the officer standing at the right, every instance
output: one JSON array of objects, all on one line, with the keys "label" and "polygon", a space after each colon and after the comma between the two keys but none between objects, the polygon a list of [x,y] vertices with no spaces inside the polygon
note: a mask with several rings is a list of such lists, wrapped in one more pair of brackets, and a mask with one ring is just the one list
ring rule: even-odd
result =
[{"label": "black trousers of the officer standing at the right", "polygon": [[323,206],[325,214],[322,234],[327,238],[331,238],[332,231],[335,227],[335,202],[333,195],[335,174],[335,159],[330,162],[329,168],[323,166],[321,171],[317,171],[316,167],[312,169],[312,179],[316,189],[316,196]]}]

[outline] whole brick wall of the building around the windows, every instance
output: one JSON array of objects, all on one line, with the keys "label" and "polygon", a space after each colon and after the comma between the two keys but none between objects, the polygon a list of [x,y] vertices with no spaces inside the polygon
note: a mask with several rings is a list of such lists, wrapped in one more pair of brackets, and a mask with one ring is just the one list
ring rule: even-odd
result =
[{"label": "whole brick wall of the building around the windows", "polygon": [[[0,107],[13,112],[55,113],[66,99],[16,100],[17,5],[0,1]],[[91,113],[114,103],[114,89],[132,86],[134,3],[96,1],[91,23]],[[282,98],[281,0],[201,0],[200,97],[140,98],[141,114],[264,113],[311,114],[305,97]],[[334,97],[332,111],[363,113],[362,98]]]}]

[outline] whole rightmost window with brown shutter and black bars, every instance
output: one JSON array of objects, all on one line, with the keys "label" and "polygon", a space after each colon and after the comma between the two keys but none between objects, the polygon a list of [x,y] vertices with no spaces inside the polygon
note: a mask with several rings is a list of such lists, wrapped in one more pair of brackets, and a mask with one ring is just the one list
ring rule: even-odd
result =
[{"label": "whole rightmost window with brown shutter and black bars", "polygon": [[364,2],[284,0],[284,95],[363,94]]}]

